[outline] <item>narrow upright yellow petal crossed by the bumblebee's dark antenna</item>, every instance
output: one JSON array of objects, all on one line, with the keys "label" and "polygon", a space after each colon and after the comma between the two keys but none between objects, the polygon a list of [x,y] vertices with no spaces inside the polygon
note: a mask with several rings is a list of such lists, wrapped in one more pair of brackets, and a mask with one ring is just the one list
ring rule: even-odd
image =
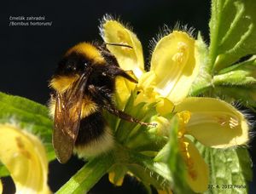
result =
[{"label": "narrow upright yellow petal crossed by the bumblebee's dark antenna", "polygon": [[116,20],[105,20],[101,30],[105,43],[121,43],[132,47],[107,45],[122,69],[133,71],[137,78],[141,77],[144,71],[143,47],[137,36]]}]

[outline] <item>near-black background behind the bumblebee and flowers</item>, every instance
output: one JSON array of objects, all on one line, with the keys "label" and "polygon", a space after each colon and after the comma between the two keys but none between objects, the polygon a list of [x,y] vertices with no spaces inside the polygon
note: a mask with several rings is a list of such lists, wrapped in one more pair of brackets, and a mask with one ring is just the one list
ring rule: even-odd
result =
[{"label": "near-black background behind the bumblebee and flowers", "polygon": [[[173,27],[179,22],[201,31],[206,42],[210,1],[144,0],[144,1],[9,1],[1,5],[0,91],[24,96],[46,104],[49,99],[48,80],[61,55],[74,44],[102,40],[97,26],[104,14],[119,16],[130,22],[133,31],[143,43],[145,60],[148,61],[148,43],[160,27]],[[52,26],[9,26],[9,16],[45,16]],[[251,148],[255,142],[251,143]],[[255,146],[254,146],[255,147]],[[254,149],[255,150],[255,149]],[[253,152],[253,149],[250,150]],[[255,163],[255,151],[252,155]],[[49,186],[57,191],[83,166],[75,157],[65,165],[49,164]],[[255,170],[255,169],[254,169]],[[9,179],[4,179],[4,183]],[[254,180],[255,183],[255,180]],[[256,193],[253,184],[250,193]],[[9,190],[13,191],[9,186]],[[125,178],[122,187],[102,180],[90,193],[143,193],[143,187],[131,177]]]}]

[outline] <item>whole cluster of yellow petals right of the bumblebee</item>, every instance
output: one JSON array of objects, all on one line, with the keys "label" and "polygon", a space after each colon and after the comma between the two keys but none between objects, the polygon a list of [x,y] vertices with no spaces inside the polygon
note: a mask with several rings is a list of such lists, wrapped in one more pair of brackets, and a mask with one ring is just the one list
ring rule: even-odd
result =
[{"label": "whole cluster of yellow petals right of the bumblebee", "polygon": [[[101,29],[106,43],[132,47],[108,45],[119,66],[126,71],[133,71],[138,79],[139,93],[135,104],[155,103],[157,118],[154,117],[154,122],[158,123],[156,134],[169,134],[168,115],[178,118],[177,139],[180,154],[186,164],[188,184],[193,191],[206,191],[209,169],[189,137],[191,139],[193,136],[201,144],[215,148],[242,145],[248,140],[248,124],[240,111],[223,100],[189,97],[189,90],[201,72],[203,61],[199,54],[200,43],[186,31],[170,32],[156,43],[150,70],[145,71],[142,45],[131,30],[108,17],[102,22]],[[129,96],[132,88],[131,84],[118,83],[123,106],[127,100],[125,96]]]}]

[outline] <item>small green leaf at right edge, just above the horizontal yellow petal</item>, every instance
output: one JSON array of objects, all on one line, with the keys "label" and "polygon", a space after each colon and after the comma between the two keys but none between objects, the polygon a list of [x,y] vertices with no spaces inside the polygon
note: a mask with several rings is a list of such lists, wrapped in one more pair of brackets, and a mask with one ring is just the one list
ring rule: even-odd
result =
[{"label": "small green leaf at right edge, just above the horizontal yellow petal", "polygon": [[244,106],[256,106],[256,60],[241,62],[224,68],[212,79],[215,96],[229,102],[239,101]]}]

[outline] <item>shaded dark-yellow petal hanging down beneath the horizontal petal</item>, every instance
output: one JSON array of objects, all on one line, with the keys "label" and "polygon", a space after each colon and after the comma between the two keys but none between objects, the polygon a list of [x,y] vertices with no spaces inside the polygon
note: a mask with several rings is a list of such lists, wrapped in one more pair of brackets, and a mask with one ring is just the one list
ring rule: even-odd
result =
[{"label": "shaded dark-yellow petal hanging down beneath the horizontal petal", "polygon": [[181,138],[179,147],[187,167],[187,181],[195,192],[207,191],[209,183],[209,168],[201,157],[200,152],[188,138]]}]

